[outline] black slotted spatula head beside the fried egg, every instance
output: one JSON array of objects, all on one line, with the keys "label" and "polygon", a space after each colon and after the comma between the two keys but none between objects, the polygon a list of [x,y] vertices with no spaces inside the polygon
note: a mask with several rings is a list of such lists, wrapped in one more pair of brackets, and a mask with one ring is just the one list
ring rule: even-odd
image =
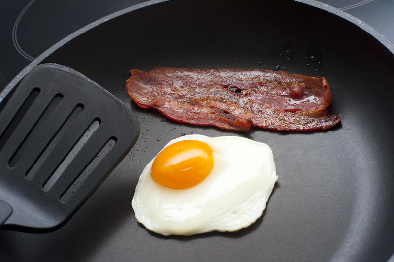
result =
[{"label": "black slotted spatula head beside the fried egg", "polygon": [[61,65],[36,66],[0,104],[0,227],[64,225],[125,157],[139,125],[119,99]]}]

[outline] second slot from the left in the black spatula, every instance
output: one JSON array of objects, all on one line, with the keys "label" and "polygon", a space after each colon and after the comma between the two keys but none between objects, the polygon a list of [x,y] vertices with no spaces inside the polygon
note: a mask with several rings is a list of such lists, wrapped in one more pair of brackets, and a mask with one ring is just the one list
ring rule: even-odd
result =
[{"label": "second slot from the left in the black spatula", "polygon": [[23,141],[19,145],[18,149],[15,151],[15,153],[9,159],[9,161],[8,161],[9,167],[13,168],[16,166],[16,164],[18,164],[19,160],[21,160],[21,158],[25,154],[26,150],[32,144],[34,138],[45,126],[46,122],[51,117],[51,115],[55,111],[55,109],[58,107],[58,105],[60,104],[62,99],[63,99],[62,94],[56,94],[55,97],[51,100],[51,102],[48,104],[48,106],[45,108],[45,110],[42,112],[42,114],[38,118],[37,122],[33,125],[32,129],[29,131],[29,133],[23,139]]}]

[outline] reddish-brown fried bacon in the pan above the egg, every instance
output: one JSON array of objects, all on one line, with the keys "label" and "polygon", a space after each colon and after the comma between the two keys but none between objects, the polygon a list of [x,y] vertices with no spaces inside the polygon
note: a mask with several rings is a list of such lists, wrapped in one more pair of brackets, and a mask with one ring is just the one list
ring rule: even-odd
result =
[{"label": "reddish-brown fried bacon in the pan above the egg", "polygon": [[326,130],[340,123],[328,114],[326,78],[261,69],[132,69],[126,90],[141,108],[154,107],[182,123],[249,131]]}]

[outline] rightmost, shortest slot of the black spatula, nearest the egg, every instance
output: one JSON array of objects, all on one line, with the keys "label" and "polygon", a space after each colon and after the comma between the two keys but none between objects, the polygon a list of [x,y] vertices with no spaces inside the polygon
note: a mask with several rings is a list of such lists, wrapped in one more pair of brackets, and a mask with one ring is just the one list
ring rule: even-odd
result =
[{"label": "rightmost, shortest slot of the black spatula, nearest the egg", "polygon": [[66,192],[60,197],[62,203],[66,203],[74,193],[81,187],[83,182],[89,177],[89,175],[95,171],[96,166],[99,165],[101,160],[111,152],[112,148],[116,143],[116,137],[111,139],[101,148],[99,154],[92,160],[92,162],[85,168],[85,170],[75,179],[72,185],[66,190]]}]

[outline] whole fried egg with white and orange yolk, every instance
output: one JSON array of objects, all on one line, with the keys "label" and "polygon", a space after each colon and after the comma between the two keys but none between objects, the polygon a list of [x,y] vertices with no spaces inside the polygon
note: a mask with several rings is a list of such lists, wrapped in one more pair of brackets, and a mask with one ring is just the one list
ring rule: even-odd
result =
[{"label": "whole fried egg with white and orange yolk", "polygon": [[186,135],[146,165],[132,208],[139,223],[162,235],[238,231],[262,215],[277,179],[264,143]]}]

